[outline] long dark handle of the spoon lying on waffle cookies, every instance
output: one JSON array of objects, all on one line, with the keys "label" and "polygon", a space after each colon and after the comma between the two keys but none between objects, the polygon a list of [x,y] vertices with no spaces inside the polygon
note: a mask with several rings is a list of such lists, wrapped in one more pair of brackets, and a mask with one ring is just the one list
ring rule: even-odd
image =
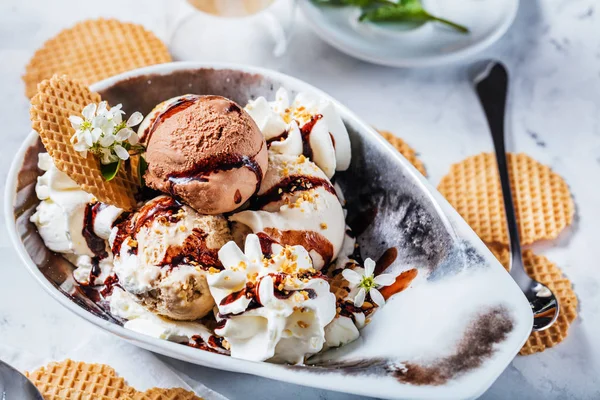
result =
[{"label": "long dark handle of the spoon lying on waffle cookies", "polygon": [[500,184],[502,186],[502,197],[506,210],[506,222],[510,240],[511,272],[510,274],[522,290],[529,289],[531,278],[523,267],[521,255],[521,242],[519,240],[519,227],[515,207],[512,200],[510,188],[510,177],[508,175],[508,162],[504,145],[504,117],[506,113],[506,100],[508,97],[508,72],[500,62],[493,61],[485,71],[475,78],[475,88],[479,101],[487,117],[488,125],[492,133]]}]

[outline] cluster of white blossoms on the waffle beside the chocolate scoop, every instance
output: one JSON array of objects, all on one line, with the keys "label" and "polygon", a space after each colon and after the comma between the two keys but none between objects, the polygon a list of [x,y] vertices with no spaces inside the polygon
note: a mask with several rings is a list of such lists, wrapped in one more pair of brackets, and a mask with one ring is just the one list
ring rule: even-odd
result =
[{"label": "cluster of white blossoms on the waffle beside the chocolate scoop", "polygon": [[123,122],[124,114],[121,104],[110,109],[106,101],[85,106],[81,116],[69,117],[71,126],[75,129],[71,137],[73,148],[83,157],[87,157],[87,152],[90,151],[105,165],[129,159],[130,150],[143,149],[138,144],[137,133],[131,128],[142,122],[144,117],[139,112],[134,112],[127,122]]}]

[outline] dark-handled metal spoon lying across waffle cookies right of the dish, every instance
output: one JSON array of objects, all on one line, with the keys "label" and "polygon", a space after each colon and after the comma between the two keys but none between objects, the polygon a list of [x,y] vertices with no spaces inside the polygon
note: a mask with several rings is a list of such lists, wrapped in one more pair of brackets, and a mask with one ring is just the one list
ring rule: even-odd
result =
[{"label": "dark-handled metal spoon lying across waffle cookies right of the dish", "polygon": [[504,115],[508,93],[508,73],[498,61],[488,61],[474,78],[475,89],[483,106],[494,141],[511,252],[510,275],[521,288],[533,311],[533,330],[549,328],[558,317],[559,305],[554,293],[527,275],[523,266],[519,228],[512,201],[504,147]]}]

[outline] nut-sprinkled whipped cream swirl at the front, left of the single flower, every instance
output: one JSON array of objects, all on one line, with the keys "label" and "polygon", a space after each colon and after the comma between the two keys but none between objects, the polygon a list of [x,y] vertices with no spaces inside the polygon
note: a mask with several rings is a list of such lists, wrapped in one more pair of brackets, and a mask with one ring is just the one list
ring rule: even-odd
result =
[{"label": "nut-sprinkled whipped cream swirl at the front, left of the single flower", "polygon": [[229,242],[219,259],[225,269],[207,281],[219,310],[215,333],[233,357],[297,364],[323,348],[336,298],[303,247],[274,245],[265,258],[251,234],[244,252]]}]

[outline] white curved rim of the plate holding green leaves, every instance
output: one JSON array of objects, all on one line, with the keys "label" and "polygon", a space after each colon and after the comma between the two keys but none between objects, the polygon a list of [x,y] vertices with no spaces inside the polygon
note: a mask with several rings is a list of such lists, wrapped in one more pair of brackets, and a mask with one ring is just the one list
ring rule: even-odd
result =
[{"label": "white curved rim of the plate holding green leaves", "polygon": [[[313,29],[313,31],[325,42],[329,43],[331,46],[335,47],[342,53],[345,53],[351,57],[358,58],[360,60],[366,61],[371,64],[379,64],[385,65],[388,67],[398,67],[398,68],[414,68],[414,67],[435,67],[439,65],[445,64],[454,64],[460,61],[470,59],[475,54],[487,49],[489,46],[498,41],[505,33],[508,31],[508,28],[512,25],[517,16],[517,11],[519,10],[519,0],[506,0],[511,1],[507,7],[510,7],[508,10],[509,14],[506,19],[499,24],[488,37],[485,39],[475,43],[474,45],[464,47],[460,50],[457,50],[452,53],[439,54],[436,56],[430,57],[419,57],[419,58],[401,58],[401,57],[373,57],[371,54],[367,54],[361,51],[357,51],[354,48],[348,48],[343,42],[338,41],[333,37],[333,35],[329,35],[329,31],[326,27],[316,23],[311,18],[305,18],[308,21],[308,24]],[[307,14],[307,7],[311,7],[310,0],[300,0],[300,9],[304,16]]]}]

